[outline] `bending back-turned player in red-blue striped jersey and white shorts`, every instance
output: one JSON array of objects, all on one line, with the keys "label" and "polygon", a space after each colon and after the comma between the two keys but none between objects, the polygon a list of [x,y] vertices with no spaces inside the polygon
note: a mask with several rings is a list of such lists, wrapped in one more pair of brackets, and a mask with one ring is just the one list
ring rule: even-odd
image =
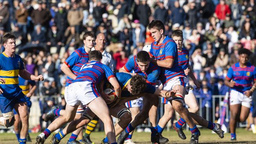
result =
[{"label": "bending back-turned player in red-blue striped jersey and white shorts", "polygon": [[[88,108],[103,121],[109,142],[111,144],[116,144],[115,130],[109,114],[109,109],[100,96],[96,85],[98,85],[98,83],[106,76],[109,83],[114,87],[115,94],[118,98],[121,95],[121,88],[113,75],[112,70],[108,66],[100,63],[101,59],[102,54],[99,51],[95,50],[89,53],[89,63],[86,63],[81,67],[76,79],[67,88],[65,100],[69,109],[66,109],[65,113],[70,116],[69,121],[71,121],[75,117],[74,112],[78,108],[78,105],[80,105],[80,103],[87,105]],[[100,105],[100,107],[98,107],[98,105]],[[54,120],[51,125],[58,125],[58,122],[61,122],[60,118]],[[59,127],[57,127],[57,129]],[[54,130],[56,129],[53,129],[53,131]],[[58,144],[64,136],[65,134],[63,131],[60,131],[52,137],[50,143]]]}]

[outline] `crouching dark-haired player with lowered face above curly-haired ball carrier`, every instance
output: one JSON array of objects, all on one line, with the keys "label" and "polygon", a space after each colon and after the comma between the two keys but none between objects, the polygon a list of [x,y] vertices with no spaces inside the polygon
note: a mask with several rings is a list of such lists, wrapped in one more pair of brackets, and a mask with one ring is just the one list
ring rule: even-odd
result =
[{"label": "crouching dark-haired player with lowered face above curly-haired ball carrier", "polygon": [[[150,56],[146,51],[141,51],[137,54],[137,56],[134,56],[133,58],[129,59],[129,61],[126,63],[126,65],[124,65],[119,72],[126,72],[126,73],[130,73],[132,75],[136,75],[136,74],[140,74],[142,75],[145,79],[146,82],[151,84],[151,85],[156,85],[156,81],[158,79],[158,76],[160,74],[160,68],[152,63],[150,63]],[[134,73],[131,73],[134,72]],[[149,94],[148,94],[149,95]],[[145,97],[147,98],[147,97]],[[156,99],[158,99],[157,96],[155,96]],[[135,116],[139,113],[139,107],[141,106],[142,102],[140,102],[142,100],[142,98],[139,98],[137,100],[133,100],[130,102],[126,103],[126,106],[128,106],[128,108],[130,108],[130,110],[132,109],[132,118],[134,120]],[[157,101],[158,102],[158,101]],[[133,111],[135,113],[133,113]],[[157,112],[155,112],[157,113]],[[151,118],[150,122],[152,120],[156,120],[156,118]],[[151,124],[156,124],[155,122],[151,122]],[[157,127],[156,126],[152,126],[150,127],[151,129],[151,137],[152,139],[158,139],[158,137],[156,137],[157,134]],[[132,133],[133,131],[129,134],[128,138],[126,139],[125,143],[133,143],[132,142]],[[159,136],[159,135],[157,135]],[[162,139],[161,141],[166,141],[168,142],[167,138],[161,137]],[[155,140],[154,140],[155,142]]]}]

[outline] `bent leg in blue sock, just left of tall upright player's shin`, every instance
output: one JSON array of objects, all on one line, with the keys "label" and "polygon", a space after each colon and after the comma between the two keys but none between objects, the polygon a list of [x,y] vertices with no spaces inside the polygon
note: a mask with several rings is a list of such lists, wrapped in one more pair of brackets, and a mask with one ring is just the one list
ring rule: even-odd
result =
[{"label": "bent leg in blue sock, just left of tall upright player's shin", "polygon": [[[165,112],[163,113],[163,116],[160,118],[158,122],[158,133],[162,133],[163,129],[165,128],[166,124],[171,120],[174,114],[174,109],[173,106],[171,105],[170,102],[168,102],[165,98],[161,98],[162,103],[164,104],[164,110]],[[165,102],[166,101],[166,102]]]}]

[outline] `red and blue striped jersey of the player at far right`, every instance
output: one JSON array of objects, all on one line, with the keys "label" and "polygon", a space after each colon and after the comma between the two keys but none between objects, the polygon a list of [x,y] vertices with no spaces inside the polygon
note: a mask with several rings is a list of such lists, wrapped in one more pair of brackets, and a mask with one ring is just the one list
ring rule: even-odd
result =
[{"label": "red and blue striped jersey of the player at far right", "polygon": [[256,80],[256,68],[251,63],[247,63],[245,68],[241,68],[239,63],[236,63],[228,69],[226,78],[236,82],[236,85],[231,89],[243,93],[250,90],[253,81]]}]

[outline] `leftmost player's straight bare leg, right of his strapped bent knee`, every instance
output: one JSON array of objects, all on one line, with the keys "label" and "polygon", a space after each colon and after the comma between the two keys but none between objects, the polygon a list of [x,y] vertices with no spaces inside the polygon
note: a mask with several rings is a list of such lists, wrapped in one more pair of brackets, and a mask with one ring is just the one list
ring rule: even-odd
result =
[{"label": "leftmost player's straight bare leg, right of his strapped bent knee", "polygon": [[20,129],[20,144],[26,143],[26,137],[28,133],[28,107],[26,102],[17,103],[14,106],[15,111],[20,116],[22,127]]}]

